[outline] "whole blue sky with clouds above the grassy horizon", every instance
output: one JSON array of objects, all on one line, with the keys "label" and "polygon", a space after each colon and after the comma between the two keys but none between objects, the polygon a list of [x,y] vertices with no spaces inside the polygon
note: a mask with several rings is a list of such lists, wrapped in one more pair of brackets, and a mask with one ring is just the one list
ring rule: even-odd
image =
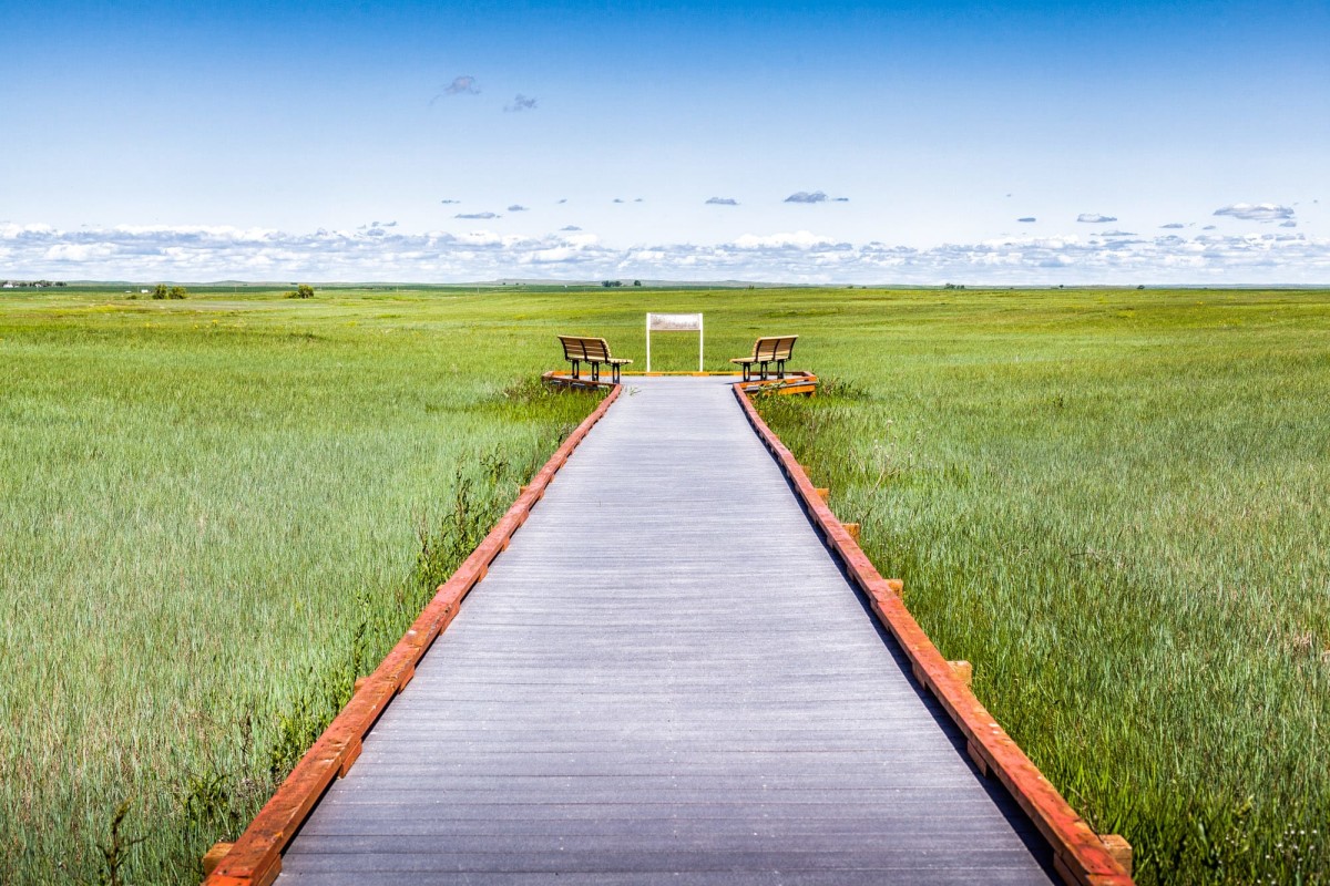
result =
[{"label": "whole blue sky with clouds above the grassy horizon", "polygon": [[0,275],[1330,283],[1323,0],[5,1],[0,31]]}]

